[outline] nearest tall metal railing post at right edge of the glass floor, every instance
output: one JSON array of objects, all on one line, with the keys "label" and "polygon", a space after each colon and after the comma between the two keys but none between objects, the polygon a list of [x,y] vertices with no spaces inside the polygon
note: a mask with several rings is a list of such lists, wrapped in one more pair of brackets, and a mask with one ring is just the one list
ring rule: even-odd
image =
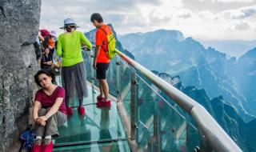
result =
[{"label": "nearest tall metal railing post at right edge of the glass floor", "polygon": [[136,71],[130,66],[130,138],[136,138]]}]

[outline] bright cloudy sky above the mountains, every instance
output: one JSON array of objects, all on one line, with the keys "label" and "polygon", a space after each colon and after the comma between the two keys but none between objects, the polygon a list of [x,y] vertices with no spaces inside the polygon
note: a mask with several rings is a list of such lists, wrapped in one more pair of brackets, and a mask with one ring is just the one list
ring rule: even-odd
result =
[{"label": "bright cloudy sky above the mountains", "polygon": [[209,40],[256,39],[256,0],[42,0],[40,28],[61,34],[65,18],[81,31],[93,30],[100,13],[118,34],[159,29]]}]

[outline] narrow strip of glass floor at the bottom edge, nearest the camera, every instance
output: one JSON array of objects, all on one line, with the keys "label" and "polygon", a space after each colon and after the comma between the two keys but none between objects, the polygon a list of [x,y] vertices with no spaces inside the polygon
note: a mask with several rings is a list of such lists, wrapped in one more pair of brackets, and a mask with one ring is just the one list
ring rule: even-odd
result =
[{"label": "narrow strip of glass floor at the bottom edge, nearest the camera", "polygon": [[90,145],[82,146],[66,146],[54,148],[54,151],[65,152],[130,152],[129,143],[127,141],[106,142],[106,143],[93,143]]}]

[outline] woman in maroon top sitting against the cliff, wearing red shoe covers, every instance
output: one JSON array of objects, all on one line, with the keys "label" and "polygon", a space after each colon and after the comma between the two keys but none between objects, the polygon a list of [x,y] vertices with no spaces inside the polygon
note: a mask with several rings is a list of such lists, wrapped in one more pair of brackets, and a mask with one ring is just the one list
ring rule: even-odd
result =
[{"label": "woman in maroon top sitting against the cliff, wearing red shoe covers", "polygon": [[67,118],[65,90],[53,84],[54,73],[50,70],[39,70],[34,80],[42,89],[35,94],[33,118],[36,139],[32,152],[50,152],[53,150],[51,138],[58,137],[58,126],[62,126]]}]

